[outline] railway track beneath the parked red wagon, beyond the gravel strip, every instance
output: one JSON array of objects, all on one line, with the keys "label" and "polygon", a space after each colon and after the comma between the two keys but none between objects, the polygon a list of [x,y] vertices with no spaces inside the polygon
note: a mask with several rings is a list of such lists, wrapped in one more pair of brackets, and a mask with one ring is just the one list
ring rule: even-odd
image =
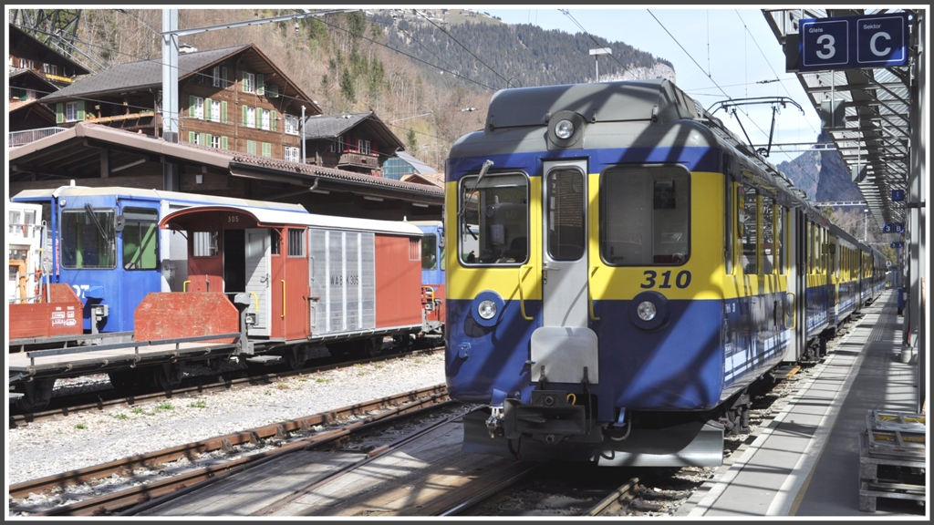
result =
[{"label": "railway track beneath the parked red wagon, beyond the gravel strip", "polygon": [[168,399],[198,396],[207,392],[236,390],[256,385],[270,385],[277,380],[287,377],[316,374],[338,368],[346,368],[357,364],[370,362],[383,362],[400,359],[419,353],[443,350],[444,347],[411,349],[403,352],[380,354],[374,357],[353,359],[350,361],[325,361],[322,364],[306,366],[298,370],[276,370],[271,373],[249,373],[250,369],[243,369],[238,373],[248,374],[243,377],[224,378],[217,374],[186,377],[178,388],[172,390],[133,390],[128,395],[120,390],[104,388],[90,393],[81,393],[74,396],[59,396],[53,398],[53,406],[49,410],[35,413],[16,413],[13,405],[10,406],[9,428],[20,427],[32,422],[46,419],[56,419],[75,415],[82,412],[101,411],[107,408],[120,406],[134,406],[138,404],[155,403]]}]

